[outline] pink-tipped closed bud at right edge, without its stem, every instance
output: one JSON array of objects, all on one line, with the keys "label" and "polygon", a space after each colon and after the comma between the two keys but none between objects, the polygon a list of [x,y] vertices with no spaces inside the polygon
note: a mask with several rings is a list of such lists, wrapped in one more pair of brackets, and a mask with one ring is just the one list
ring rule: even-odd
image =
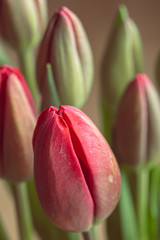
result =
[{"label": "pink-tipped closed bud at right edge, without its stem", "polygon": [[120,102],[115,120],[113,148],[128,165],[157,162],[160,156],[160,104],[145,74],[137,74]]}]

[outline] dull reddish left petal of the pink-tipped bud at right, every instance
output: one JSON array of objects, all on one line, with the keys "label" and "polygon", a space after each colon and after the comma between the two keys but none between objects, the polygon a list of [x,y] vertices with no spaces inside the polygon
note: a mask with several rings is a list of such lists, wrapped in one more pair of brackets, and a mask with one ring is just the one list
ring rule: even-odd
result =
[{"label": "dull reddish left petal of the pink-tipped bud at right", "polygon": [[146,160],[146,117],[143,83],[133,81],[120,102],[114,126],[113,149],[119,161],[133,165]]}]

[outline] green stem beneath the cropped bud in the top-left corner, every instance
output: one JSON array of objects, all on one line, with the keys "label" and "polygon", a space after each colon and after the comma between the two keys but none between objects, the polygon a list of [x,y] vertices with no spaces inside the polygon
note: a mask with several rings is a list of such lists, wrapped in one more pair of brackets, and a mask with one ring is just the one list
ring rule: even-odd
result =
[{"label": "green stem beneath the cropped bud in the top-left corner", "polygon": [[26,49],[18,53],[21,70],[26,78],[28,86],[34,97],[36,106],[39,108],[39,92],[36,82],[35,57],[33,49]]}]

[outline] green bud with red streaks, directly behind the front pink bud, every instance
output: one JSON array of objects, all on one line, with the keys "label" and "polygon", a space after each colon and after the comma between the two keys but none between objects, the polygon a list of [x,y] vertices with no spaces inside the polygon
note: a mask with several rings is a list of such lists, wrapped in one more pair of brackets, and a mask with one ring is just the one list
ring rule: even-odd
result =
[{"label": "green bud with red streaks, directly behind the front pink bud", "polygon": [[80,20],[66,7],[51,19],[39,49],[37,80],[42,108],[55,104],[49,94],[47,63],[51,64],[61,104],[82,107],[92,86],[92,52]]}]

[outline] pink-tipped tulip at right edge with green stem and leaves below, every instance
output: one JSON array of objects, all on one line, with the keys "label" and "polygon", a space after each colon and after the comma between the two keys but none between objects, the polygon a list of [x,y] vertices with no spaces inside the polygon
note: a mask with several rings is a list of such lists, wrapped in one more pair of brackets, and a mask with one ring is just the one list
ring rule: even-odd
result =
[{"label": "pink-tipped tulip at right edge with green stem and leaves below", "polygon": [[[112,224],[115,217],[119,219],[115,223],[120,225],[120,239],[134,240],[136,236],[149,240],[158,236],[159,123],[158,93],[145,74],[137,74],[120,100],[113,127],[113,151],[123,178]],[[115,239],[112,232],[110,228],[110,239]]]}]

